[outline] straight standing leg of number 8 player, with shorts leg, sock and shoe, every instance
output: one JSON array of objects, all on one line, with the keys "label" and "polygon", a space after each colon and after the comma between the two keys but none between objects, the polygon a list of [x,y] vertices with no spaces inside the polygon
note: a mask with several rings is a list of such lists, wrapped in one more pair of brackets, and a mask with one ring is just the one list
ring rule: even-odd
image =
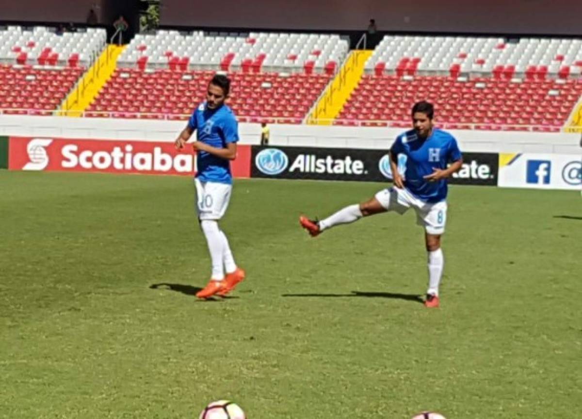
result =
[{"label": "straight standing leg of number 8 player, with shorts leg, sock and shoe", "polygon": [[445,267],[441,249],[441,236],[445,232],[446,202],[427,204],[417,210],[418,224],[424,226],[424,243],[427,249],[428,289],[425,306],[439,306],[439,285]]}]

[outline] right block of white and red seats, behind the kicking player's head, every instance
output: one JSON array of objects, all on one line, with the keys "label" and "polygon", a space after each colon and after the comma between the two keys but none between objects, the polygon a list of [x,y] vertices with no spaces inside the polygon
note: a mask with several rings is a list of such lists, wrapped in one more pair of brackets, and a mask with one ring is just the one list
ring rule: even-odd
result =
[{"label": "right block of white and red seats, behind the kicking player's head", "polygon": [[582,40],[387,36],[335,124],[409,126],[427,99],[448,128],[559,131],[581,70]]}]

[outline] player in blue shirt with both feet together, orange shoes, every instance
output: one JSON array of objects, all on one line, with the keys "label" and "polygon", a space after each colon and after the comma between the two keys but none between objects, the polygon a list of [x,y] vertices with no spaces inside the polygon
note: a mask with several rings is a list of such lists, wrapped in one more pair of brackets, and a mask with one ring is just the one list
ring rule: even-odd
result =
[{"label": "player in blue shirt with both feet together, orange shoes", "polygon": [[224,296],[245,276],[244,271],[236,266],[226,235],[218,227],[218,220],[224,216],[232,192],[230,160],[236,159],[236,143],[239,141],[235,114],[224,103],[229,91],[229,78],[222,74],[215,75],[208,84],[206,101],[194,110],[175,142],[177,149],[184,148],[196,131],[193,148],[197,164],[194,183],[198,220],[212,262],[211,279],[204,289],[196,293],[198,298]]}]

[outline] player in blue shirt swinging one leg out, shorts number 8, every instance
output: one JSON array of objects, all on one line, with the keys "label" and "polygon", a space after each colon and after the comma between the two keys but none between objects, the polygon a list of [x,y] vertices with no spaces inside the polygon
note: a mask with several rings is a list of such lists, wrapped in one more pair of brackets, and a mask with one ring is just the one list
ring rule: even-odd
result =
[{"label": "player in blue shirt swinging one leg out, shorts number 8", "polygon": [[[347,206],[325,220],[313,221],[301,216],[299,222],[313,237],[335,225],[349,224],[361,217],[395,211],[405,213],[413,208],[417,223],[425,230],[428,252],[428,291],[424,305],[439,306],[439,284],[444,259],[441,235],[445,232],[447,178],[459,170],[463,156],[456,139],[432,124],[431,103],[418,102],[412,108],[414,129],[396,138],[390,150],[390,166],[394,178],[392,188],[378,192],[360,205]],[[406,156],[406,170],[398,171],[398,155]],[[449,166],[449,163],[450,166]]]}]

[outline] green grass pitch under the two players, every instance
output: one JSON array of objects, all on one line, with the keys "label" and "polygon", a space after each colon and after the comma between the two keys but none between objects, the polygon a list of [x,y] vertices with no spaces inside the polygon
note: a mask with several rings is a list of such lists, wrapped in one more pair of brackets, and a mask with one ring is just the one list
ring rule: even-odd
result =
[{"label": "green grass pitch under the two players", "polygon": [[0,171],[0,417],[582,416],[582,199],[452,187],[440,309],[413,213],[311,239],[385,185],[239,180],[247,280],[210,275],[189,178]]}]

